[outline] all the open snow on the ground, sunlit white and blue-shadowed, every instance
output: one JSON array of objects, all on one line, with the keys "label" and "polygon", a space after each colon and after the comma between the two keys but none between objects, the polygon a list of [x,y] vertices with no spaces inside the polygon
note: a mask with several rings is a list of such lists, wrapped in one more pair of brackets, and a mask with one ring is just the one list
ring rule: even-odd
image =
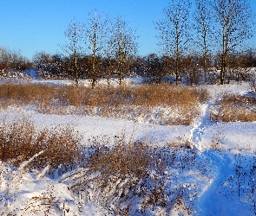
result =
[{"label": "all the open snow on the ground, sunlit white and blue-shadowed", "polygon": [[[52,85],[71,83],[55,80],[33,80],[33,82]],[[140,82],[141,79],[127,80],[128,85],[139,85]],[[82,115],[47,115],[18,108],[1,111],[0,119],[25,116],[29,117],[38,128],[72,124],[75,130],[82,134],[83,145],[87,145],[89,138],[92,137],[108,136],[112,139],[123,132],[128,138],[146,141],[155,147],[188,140],[197,152],[194,167],[185,169],[170,167],[166,168],[164,173],[173,178],[167,181],[169,188],[174,189],[178,185],[186,188],[187,200],[183,200],[184,203],[180,205],[174,204],[169,211],[155,208],[145,215],[256,215],[256,192],[252,192],[256,187],[254,182],[256,168],[253,169],[256,163],[256,122],[216,123],[209,118],[211,106],[224,92],[245,94],[250,91],[249,85],[242,83],[199,87],[206,88],[210,92],[211,99],[201,106],[200,116],[189,126],[148,124],[126,119]],[[220,149],[210,149],[217,141]],[[62,176],[59,180],[61,178]],[[78,207],[80,198],[71,193],[65,182],[40,173],[27,172],[23,168],[16,169],[3,162],[0,162],[0,186],[0,213],[3,215],[8,213],[45,215],[47,205],[41,205],[43,197],[50,200],[51,196],[59,202],[53,213],[55,215],[64,215],[65,211],[65,215],[112,215],[108,209],[104,209],[92,200]],[[191,196],[191,191],[196,191],[195,198]],[[187,212],[185,206],[190,205],[189,203],[193,203],[192,211]]]}]

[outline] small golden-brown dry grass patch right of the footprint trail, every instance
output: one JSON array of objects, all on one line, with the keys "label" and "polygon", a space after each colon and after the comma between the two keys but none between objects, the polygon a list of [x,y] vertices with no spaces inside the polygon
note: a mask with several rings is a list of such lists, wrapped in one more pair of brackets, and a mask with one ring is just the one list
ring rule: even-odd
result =
[{"label": "small golden-brown dry grass patch right of the footprint trail", "polygon": [[218,111],[211,113],[215,121],[253,122],[256,121],[256,99],[240,95],[224,95],[217,105]]}]

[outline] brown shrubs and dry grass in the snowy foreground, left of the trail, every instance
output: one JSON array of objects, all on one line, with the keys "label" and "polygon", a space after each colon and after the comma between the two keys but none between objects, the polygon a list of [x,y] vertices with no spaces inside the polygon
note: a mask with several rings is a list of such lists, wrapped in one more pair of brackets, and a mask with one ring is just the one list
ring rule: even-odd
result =
[{"label": "brown shrubs and dry grass in the snowy foreground, left of the trail", "polygon": [[[36,130],[29,118],[3,119],[0,124],[0,182],[6,178],[10,182],[1,198],[5,203],[2,213],[30,213],[30,208],[57,213],[54,209],[60,200],[54,200],[53,191],[49,191],[49,196],[32,197],[24,208],[20,206],[10,210],[10,197],[16,197],[22,175],[29,170],[41,173],[40,178],[46,173],[49,176],[57,173],[58,181],[66,183],[72,193],[80,197],[78,206],[92,201],[108,208],[108,213],[119,215],[130,211],[150,213],[158,207],[166,211],[165,207],[170,209],[180,201],[181,206],[191,212],[193,206],[183,203],[186,189],[181,186],[173,188],[172,195],[167,195],[165,187],[168,179],[161,175],[167,166],[185,168],[194,164],[193,149],[154,148],[147,143],[132,141],[124,133],[115,137],[114,143],[106,137],[95,137],[89,141],[87,148],[82,148],[80,140],[81,136],[70,126]],[[10,173],[6,164],[15,166]],[[151,172],[155,174],[151,175]],[[134,197],[139,198],[141,207],[127,205],[126,201],[132,203]],[[44,210],[43,200],[54,207]]]}]

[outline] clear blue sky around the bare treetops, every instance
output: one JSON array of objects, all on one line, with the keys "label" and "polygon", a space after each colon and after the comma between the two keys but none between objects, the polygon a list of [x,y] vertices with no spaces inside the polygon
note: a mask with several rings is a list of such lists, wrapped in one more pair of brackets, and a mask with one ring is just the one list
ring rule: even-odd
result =
[{"label": "clear blue sky around the bare treetops", "polygon": [[[251,0],[256,12],[256,0]],[[0,46],[20,50],[31,59],[36,52],[56,54],[65,43],[64,31],[74,17],[85,22],[89,12],[110,18],[123,16],[139,35],[139,54],[157,52],[154,22],[167,0],[0,0]]]}]

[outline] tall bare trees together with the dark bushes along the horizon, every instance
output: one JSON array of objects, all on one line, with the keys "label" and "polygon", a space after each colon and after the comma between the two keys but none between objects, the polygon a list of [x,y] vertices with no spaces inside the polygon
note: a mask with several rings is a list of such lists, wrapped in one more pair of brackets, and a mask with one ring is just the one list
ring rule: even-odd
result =
[{"label": "tall bare trees together with the dark bushes along the horizon", "polygon": [[253,37],[249,0],[194,0],[193,5],[170,0],[163,9],[163,18],[154,23],[160,54],[139,56],[135,29],[121,16],[109,20],[95,12],[85,22],[69,23],[60,54],[36,53],[33,64],[43,78],[76,84],[90,79],[92,87],[98,79],[118,78],[121,84],[134,75],[176,85],[248,79],[249,68],[256,67],[256,51],[246,44]]}]

